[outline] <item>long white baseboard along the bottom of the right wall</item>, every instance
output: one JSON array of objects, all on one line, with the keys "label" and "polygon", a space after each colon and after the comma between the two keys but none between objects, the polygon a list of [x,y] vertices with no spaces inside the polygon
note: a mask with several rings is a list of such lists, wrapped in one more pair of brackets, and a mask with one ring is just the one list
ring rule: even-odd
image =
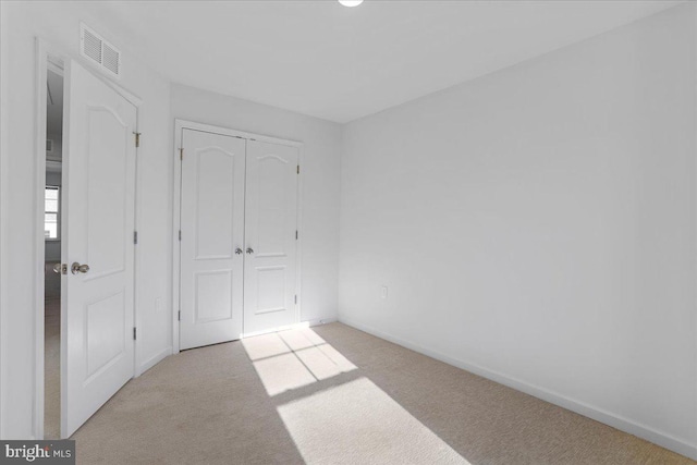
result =
[{"label": "long white baseboard along the bottom of the right wall", "polygon": [[350,318],[344,318],[341,315],[339,316],[339,321],[346,326],[353,327],[360,331],[378,336],[380,339],[384,339],[386,341],[390,341],[390,342],[393,342],[394,344],[409,348],[414,352],[418,352],[431,358],[436,358],[437,360],[447,363],[457,368],[462,368],[466,371],[473,372],[482,378],[487,378],[500,384],[508,386],[509,388],[515,389],[516,391],[524,392],[537,399],[541,399],[542,401],[549,402],[554,405],[559,405],[560,407],[575,412],[588,418],[592,418],[596,421],[600,421],[602,424],[609,425],[621,431],[628,432],[629,435],[634,435],[641,439],[646,439],[649,442],[652,442],[662,448],[669,449],[673,452],[677,452],[678,454],[685,455],[693,460],[697,460],[697,444],[690,444],[684,440],[674,438],[664,432],[657,431],[656,429],[652,429],[646,425],[641,425],[631,419],[623,418],[620,415],[615,415],[602,408],[594,407],[592,405],[574,401],[573,399],[568,399],[562,394],[549,391],[545,388],[540,388],[538,386],[534,386],[525,381],[521,381],[516,378],[509,377],[499,371],[490,370],[488,368],[484,368],[475,364],[470,364],[457,358],[453,358],[438,351],[432,351],[430,348],[423,347],[418,344],[414,344],[401,338],[396,338],[386,332],[376,330],[371,327],[365,326]]}]

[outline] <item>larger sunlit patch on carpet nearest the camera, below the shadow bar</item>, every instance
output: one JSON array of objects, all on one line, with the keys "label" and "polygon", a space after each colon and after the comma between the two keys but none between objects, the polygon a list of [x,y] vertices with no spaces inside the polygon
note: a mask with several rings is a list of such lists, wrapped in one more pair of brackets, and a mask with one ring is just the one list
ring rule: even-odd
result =
[{"label": "larger sunlit patch on carpet nearest the camera, below the shadow bar", "polygon": [[277,409],[308,464],[469,464],[367,378]]}]

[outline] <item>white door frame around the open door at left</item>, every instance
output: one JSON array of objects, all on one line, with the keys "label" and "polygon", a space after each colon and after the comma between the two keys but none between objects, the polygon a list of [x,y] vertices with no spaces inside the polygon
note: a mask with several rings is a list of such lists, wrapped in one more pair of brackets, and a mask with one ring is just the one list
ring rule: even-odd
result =
[{"label": "white door frame around the open door at left", "polygon": [[[75,60],[80,63],[86,63],[84,59],[82,59],[81,57],[77,57],[73,53],[69,53],[66,51],[64,51],[63,49],[56,47],[52,42],[41,38],[41,37],[36,37],[35,38],[35,50],[36,50],[36,83],[35,83],[35,93],[34,96],[36,98],[36,100],[34,101],[35,105],[35,120],[34,120],[34,169],[35,169],[35,173],[34,173],[34,205],[33,205],[33,209],[34,209],[34,231],[35,231],[35,242],[34,242],[34,253],[33,253],[33,261],[35,265],[35,274],[34,274],[34,402],[33,402],[33,415],[32,415],[32,423],[33,423],[33,436],[35,439],[40,440],[44,439],[44,416],[45,416],[45,412],[44,412],[44,390],[45,390],[45,382],[46,380],[44,379],[44,352],[45,352],[45,344],[44,344],[44,332],[45,332],[45,327],[44,327],[44,314],[45,314],[45,305],[44,305],[44,292],[45,292],[45,283],[44,283],[44,273],[46,270],[46,266],[45,266],[45,259],[46,259],[46,243],[45,243],[45,235],[44,235],[44,209],[45,209],[45,205],[44,205],[44,189],[46,187],[46,99],[47,99],[47,89],[46,89],[46,81],[47,81],[47,73],[49,70],[49,59],[52,60],[60,60],[63,62],[63,65],[65,66],[65,63],[68,63],[71,59]],[[136,127],[138,127],[138,121],[139,121],[139,113],[140,113],[140,106],[143,105],[143,99],[140,99],[139,97],[135,96],[134,94],[130,93],[129,90],[124,89],[123,87],[121,87],[120,85],[117,85],[115,83],[107,79],[105,76],[100,76],[98,74],[96,74],[93,71],[93,68],[89,65],[85,65],[85,69],[88,70],[93,75],[95,75],[98,79],[100,79],[101,82],[103,82],[105,84],[107,84],[110,88],[112,88],[114,91],[117,91],[121,97],[123,97],[124,99],[126,99],[129,102],[131,102],[135,109],[136,109]],[[65,70],[65,68],[63,68],[63,71]],[[63,74],[63,77],[65,77],[65,74]],[[66,82],[65,79],[63,81],[63,96],[68,96],[66,94]],[[66,103],[66,99],[64,98],[63,100],[63,105],[68,105]],[[64,114],[64,113],[63,113]],[[65,121],[63,121],[63,124],[66,124]],[[139,130],[136,130],[139,131]],[[65,145],[68,140],[63,140],[63,145]],[[138,219],[138,157],[137,157],[137,148],[136,148],[136,163],[135,163],[135,193],[134,193],[134,200],[135,200],[135,210],[134,210],[134,221],[135,221],[135,227],[137,228],[137,219]],[[63,205],[65,205],[68,203],[69,196],[70,196],[70,188],[68,186],[68,183],[65,182],[65,173],[66,173],[66,167],[70,163],[70,154],[68,150],[63,150],[62,151],[62,160],[61,162],[63,163],[62,167],[62,172],[61,172],[61,176],[63,178],[63,185],[61,186],[61,212],[63,210]],[[61,242],[64,240],[63,234],[61,233]],[[133,296],[134,296],[134,305],[133,305],[133,311],[134,311],[134,321],[137,325],[138,321],[138,305],[137,305],[137,287],[138,287],[138,283],[137,283],[137,276],[138,276],[138,260],[139,260],[139,253],[138,253],[138,248],[135,248],[135,257],[134,257],[134,292],[133,292]],[[62,262],[62,260],[61,260]],[[62,279],[62,278],[61,278]],[[62,284],[61,284],[62,286]],[[61,296],[62,298],[62,296]],[[63,341],[63,333],[64,333],[64,322],[65,322],[65,308],[63,308],[63,305],[61,305],[61,344]],[[139,345],[139,341],[135,341],[135,351],[134,351],[134,359],[133,359],[133,374],[134,377],[138,376],[139,374],[137,372],[137,356],[138,356],[138,345]],[[64,364],[63,360],[63,351],[61,348],[61,365]],[[61,389],[63,388],[63,379],[61,376]],[[61,392],[61,401],[62,401],[62,392]],[[61,409],[63,408],[63,405],[61,405]]]}]

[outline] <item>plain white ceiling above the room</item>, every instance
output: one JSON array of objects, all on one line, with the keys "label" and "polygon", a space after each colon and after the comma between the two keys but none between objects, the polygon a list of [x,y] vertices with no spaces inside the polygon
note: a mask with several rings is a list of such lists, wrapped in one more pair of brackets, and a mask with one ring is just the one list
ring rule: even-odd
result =
[{"label": "plain white ceiling above the room", "polygon": [[[90,2],[171,78],[345,123],[681,1]],[[117,42],[119,44],[119,42]]]}]

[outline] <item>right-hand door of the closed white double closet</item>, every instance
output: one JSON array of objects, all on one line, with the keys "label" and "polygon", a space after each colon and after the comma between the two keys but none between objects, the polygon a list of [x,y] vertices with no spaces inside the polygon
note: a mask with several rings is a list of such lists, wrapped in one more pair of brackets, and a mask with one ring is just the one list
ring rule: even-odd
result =
[{"label": "right-hand door of the closed white double closet", "polygon": [[296,147],[249,140],[245,204],[244,332],[298,321],[295,307]]}]

